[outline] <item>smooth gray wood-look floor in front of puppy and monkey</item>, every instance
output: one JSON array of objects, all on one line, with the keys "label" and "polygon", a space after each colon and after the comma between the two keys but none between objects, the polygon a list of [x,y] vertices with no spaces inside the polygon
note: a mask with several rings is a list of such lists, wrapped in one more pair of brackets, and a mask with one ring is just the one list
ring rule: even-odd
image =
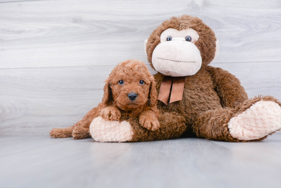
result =
[{"label": "smooth gray wood-look floor in front of puppy and monkey", "polygon": [[262,142],[138,143],[0,137],[0,187],[255,187],[281,184],[281,134]]}]

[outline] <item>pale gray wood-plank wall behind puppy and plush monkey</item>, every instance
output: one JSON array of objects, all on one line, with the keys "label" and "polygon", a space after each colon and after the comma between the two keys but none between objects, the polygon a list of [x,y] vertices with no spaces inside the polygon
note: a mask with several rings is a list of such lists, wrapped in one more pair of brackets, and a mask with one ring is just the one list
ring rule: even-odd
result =
[{"label": "pale gray wood-plank wall behind puppy and plush monkey", "polygon": [[0,3],[0,134],[46,134],[79,121],[101,101],[117,63],[149,66],[143,41],[181,14],[216,33],[212,66],[236,75],[249,97],[281,99],[281,1],[7,2]]}]

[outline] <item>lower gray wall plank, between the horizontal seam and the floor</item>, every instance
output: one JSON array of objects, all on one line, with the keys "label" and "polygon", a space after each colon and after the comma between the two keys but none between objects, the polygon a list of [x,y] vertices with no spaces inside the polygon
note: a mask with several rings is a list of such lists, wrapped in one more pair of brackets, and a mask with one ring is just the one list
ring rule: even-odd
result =
[{"label": "lower gray wall plank, between the horizontal seam and the floor", "polygon": [[[236,75],[249,97],[281,99],[281,62],[211,65]],[[1,134],[47,134],[51,128],[73,125],[101,101],[113,67],[0,69]]]}]

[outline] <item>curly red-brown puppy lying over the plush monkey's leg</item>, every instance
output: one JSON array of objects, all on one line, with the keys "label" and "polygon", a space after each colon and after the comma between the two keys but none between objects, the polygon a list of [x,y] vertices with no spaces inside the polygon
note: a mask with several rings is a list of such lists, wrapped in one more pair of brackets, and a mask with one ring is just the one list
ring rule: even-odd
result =
[{"label": "curly red-brown puppy lying over the plush monkey's leg", "polygon": [[155,80],[145,64],[136,59],[122,61],[106,79],[102,102],[81,121],[71,127],[54,128],[50,135],[54,138],[90,137],[89,125],[99,115],[106,120],[120,120],[121,116],[138,117],[141,126],[154,131],[160,126],[156,104]]}]

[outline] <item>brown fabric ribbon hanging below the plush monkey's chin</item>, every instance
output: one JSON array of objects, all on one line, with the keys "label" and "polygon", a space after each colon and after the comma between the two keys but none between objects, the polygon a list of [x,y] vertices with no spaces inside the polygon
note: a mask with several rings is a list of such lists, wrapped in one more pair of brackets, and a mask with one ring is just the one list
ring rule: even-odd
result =
[{"label": "brown fabric ribbon hanging below the plush monkey's chin", "polygon": [[[182,100],[182,94],[184,93],[184,76],[172,77],[165,76],[159,90],[158,100],[161,100],[168,105],[169,95],[171,91],[169,103]],[[172,90],[171,90],[172,87]]]}]

